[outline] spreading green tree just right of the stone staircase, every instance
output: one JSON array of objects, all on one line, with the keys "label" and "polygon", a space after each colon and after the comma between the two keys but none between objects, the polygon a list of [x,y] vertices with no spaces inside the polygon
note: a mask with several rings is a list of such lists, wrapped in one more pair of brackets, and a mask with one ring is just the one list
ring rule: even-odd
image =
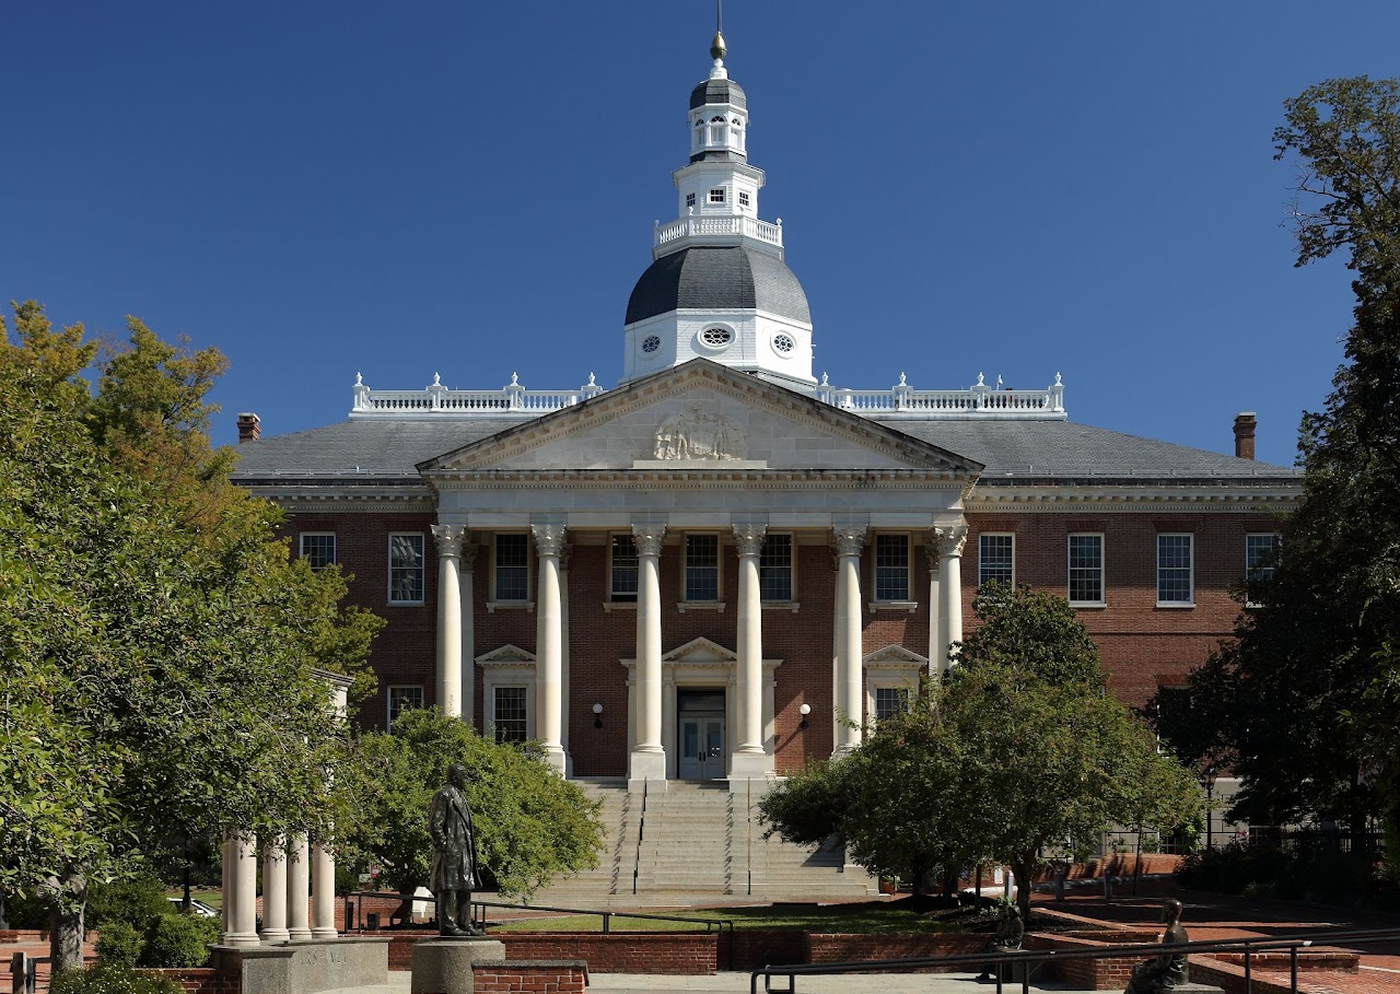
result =
[{"label": "spreading green tree just right of the stone staircase", "polygon": [[1029,916],[1042,853],[1088,851],[1114,822],[1175,827],[1200,794],[1105,692],[1064,599],[988,585],[973,610],[980,624],[942,683],[848,757],[777,787],[760,813],[791,841],[830,829],[872,872],[1007,862]]}]

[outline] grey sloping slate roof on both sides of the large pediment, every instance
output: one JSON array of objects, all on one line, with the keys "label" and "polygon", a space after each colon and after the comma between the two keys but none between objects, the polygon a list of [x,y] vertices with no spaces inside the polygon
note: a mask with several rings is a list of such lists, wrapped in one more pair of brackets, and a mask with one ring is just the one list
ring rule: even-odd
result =
[{"label": "grey sloping slate roof on both sides of the large pediment", "polygon": [[[347,482],[421,484],[416,465],[498,431],[511,421],[365,419],[262,438],[238,447],[238,483]],[[984,463],[979,487],[1106,484],[1292,484],[1296,469],[1138,438],[1072,421],[882,421],[885,427]]]}]

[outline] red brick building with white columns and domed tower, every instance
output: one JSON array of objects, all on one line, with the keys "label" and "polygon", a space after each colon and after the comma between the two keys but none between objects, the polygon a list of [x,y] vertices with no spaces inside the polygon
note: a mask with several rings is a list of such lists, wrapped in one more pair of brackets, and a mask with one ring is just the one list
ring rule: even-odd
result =
[{"label": "red brick building with white columns and domed tower", "polygon": [[843,718],[946,666],[987,580],[1067,595],[1124,701],[1180,682],[1298,473],[1253,461],[1247,414],[1235,455],[1075,424],[1058,374],[818,381],[718,35],[711,55],[615,388],[357,379],[342,423],[259,438],[241,416],[235,480],[388,620],[361,720],[441,707],[567,776],[762,780],[851,749]]}]

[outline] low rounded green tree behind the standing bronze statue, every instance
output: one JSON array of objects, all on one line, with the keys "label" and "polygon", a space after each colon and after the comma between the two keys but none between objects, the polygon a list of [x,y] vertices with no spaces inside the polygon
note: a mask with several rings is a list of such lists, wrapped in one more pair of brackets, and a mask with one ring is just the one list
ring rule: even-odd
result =
[{"label": "low rounded green tree behind the standing bronze statue", "polygon": [[533,755],[496,745],[438,711],[400,714],[393,732],[361,735],[340,785],[342,854],[379,865],[400,893],[428,882],[427,811],[448,763],[462,763],[477,850],[503,893],[529,896],[596,865],[598,805]]}]

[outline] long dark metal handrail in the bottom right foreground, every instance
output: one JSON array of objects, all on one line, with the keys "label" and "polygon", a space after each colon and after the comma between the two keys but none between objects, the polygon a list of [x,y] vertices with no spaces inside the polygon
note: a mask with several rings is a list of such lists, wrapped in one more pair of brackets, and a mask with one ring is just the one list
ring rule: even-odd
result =
[{"label": "long dark metal handrail in the bottom right foreground", "polygon": [[[1096,949],[1022,949],[1019,952],[970,952],[948,956],[918,956],[909,959],[874,959],[853,960],[848,963],[791,963],[785,966],[764,966],[755,970],[749,977],[750,994],[759,991],[759,977],[763,977],[763,990],[767,994],[795,994],[798,976],[819,976],[830,973],[876,973],[876,972],[907,972],[927,969],[931,966],[997,966],[997,994],[1002,991],[1001,966],[1004,963],[1025,963],[1026,969],[1021,974],[1021,991],[1029,994],[1030,974],[1049,962],[1064,962],[1072,959],[1127,959],[1142,956],[1161,956],[1170,952],[1240,952],[1245,955],[1245,994],[1252,994],[1253,980],[1250,973],[1250,956],[1260,952],[1288,951],[1289,953],[1289,988],[1298,994],[1298,951],[1317,945],[1337,945],[1340,942],[1351,945],[1366,945],[1369,942],[1392,942],[1400,939],[1400,928],[1383,930],[1350,930],[1350,931],[1316,931],[1281,935],[1268,939],[1215,939],[1203,942],[1142,942],[1133,945],[1114,945],[1112,948]],[[787,977],[787,987],[773,987],[773,977]]]}]

